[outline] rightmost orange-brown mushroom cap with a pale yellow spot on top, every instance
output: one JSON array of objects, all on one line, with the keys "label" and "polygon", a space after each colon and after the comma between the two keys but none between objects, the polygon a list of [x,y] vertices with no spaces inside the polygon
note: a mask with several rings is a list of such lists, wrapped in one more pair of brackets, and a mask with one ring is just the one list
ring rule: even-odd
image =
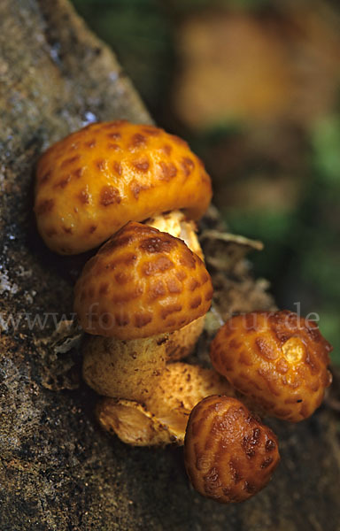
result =
[{"label": "rightmost orange-brown mushroom cap with a pale yellow spot on top", "polygon": [[297,313],[251,312],[220,328],[212,342],[215,369],[279,419],[313,414],[331,382],[332,350],[318,326]]}]

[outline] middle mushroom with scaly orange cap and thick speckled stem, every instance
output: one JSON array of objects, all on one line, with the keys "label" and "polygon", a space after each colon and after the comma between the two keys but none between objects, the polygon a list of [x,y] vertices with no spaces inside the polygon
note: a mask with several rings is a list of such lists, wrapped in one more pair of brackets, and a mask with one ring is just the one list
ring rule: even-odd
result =
[{"label": "middle mushroom with scaly orange cap and thick speckled stem", "polygon": [[212,296],[204,263],[182,240],[128,223],[75,286],[74,310],[93,335],[83,346],[85,381],[99,394],[144,401],[166,366],[166,341],[196,327]]}]

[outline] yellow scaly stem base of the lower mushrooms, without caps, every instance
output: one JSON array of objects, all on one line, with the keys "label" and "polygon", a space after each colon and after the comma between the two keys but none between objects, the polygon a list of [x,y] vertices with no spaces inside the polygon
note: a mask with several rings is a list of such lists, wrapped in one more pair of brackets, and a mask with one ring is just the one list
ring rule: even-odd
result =
[{"label": "yellow scaly stem base of the lower mushrooms, without caps", "polygon": [[177,362],[166,366],[145,403],[103,398],[97,405],[102,427],[133,446],[182,445],[192,408],[205,396],[234,390],[213,369]]}]

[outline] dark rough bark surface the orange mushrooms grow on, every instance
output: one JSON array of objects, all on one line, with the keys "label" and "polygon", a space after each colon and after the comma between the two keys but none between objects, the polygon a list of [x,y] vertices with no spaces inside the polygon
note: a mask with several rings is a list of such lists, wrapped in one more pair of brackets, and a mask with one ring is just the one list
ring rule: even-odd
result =
[{"label": "dark rough bark surface the orange mushrooms grow on", "polygon": [[[33,175],[42,150],[90,121],[150,117],[66,0],[2,0],[0,20],[0,529],[340,529],[340,452],[326,407],[297,426],[270,422],[282,464],[267,489],[229,506],[190,488],[182,449],[129,448],[97,427],[97,397],[79,376],[78,333],[72,348],[50,337],[59,319],[72,318],[73,282],[87,257],[55,256],[36,235]],[[272,307],[243,260],[251,244],[221,243],[218,226],[212,210],[203,239],[215,311]]]}]

